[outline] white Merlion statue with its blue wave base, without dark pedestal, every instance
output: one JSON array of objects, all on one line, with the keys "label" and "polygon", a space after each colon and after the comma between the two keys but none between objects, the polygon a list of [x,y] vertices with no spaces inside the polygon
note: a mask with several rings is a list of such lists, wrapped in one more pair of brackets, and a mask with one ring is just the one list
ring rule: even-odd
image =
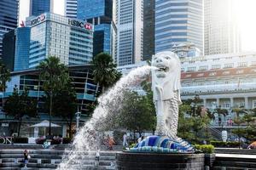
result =
[{"label": "white Merlion statue with its blue wave base, without dark pedestal", "polygon": [[177,137],[181,64],[171,51],[152,57],[152,88],[157,115],[156,135],[148,136],[130,149],[132,152],[194,152],[187,141]]}]

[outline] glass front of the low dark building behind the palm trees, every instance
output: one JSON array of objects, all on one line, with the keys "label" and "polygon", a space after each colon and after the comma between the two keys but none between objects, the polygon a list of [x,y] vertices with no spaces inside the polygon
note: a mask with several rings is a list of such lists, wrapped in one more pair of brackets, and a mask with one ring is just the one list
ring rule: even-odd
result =
[{"label": "glass front of the low dark building behind the palm trees", "polygon": [[[69,76],[73,79],[73,87],[75,88],[77,94],[78,109],[82,113],[79,121],[85,122],[89,115],[89,105],[91,105],[96,100],[96,94],[100,93],[101,88],[96,85],[93,81],[91,65],[70,65],[68,66]],[[42,82],[39,81],[37,71],[14,71],[11,73],[11,81],[7,83],[7,89],[4,93],[4,97],[8,98],[14,91],[14,88],[18,88],[21,92],[25,88],[29,89],[29,96],[38,102],[38,117],[32,118],[27,117],[23,120],[20,135],[21,136],[34,136],[34,132],[31,127],[32,124],[36,122],[42,122],[44,120],[49,120],[49,115],[47,111],[44,110],[44,90],[42,87]],[[0,100],[0,103],[2,100]],[[67,132],[71,129],[67,127],[67,121],[61,119],[61,117],[52,116],[52,122],[61,125],[59,131],[54,130],[57,134],[62,134],[63,137],[67,136]],[[0,112],[0,123],[7,123],[9,127],[0,127],[0,132],[6,135],[10,135],[11,129],[14,129],[15,133],[17,129],[17,120],[14,117],[6,116],[3,112]],[[73,120],[73,125],[75,120]],[[41,133],[39,135],[44,135]]]}]

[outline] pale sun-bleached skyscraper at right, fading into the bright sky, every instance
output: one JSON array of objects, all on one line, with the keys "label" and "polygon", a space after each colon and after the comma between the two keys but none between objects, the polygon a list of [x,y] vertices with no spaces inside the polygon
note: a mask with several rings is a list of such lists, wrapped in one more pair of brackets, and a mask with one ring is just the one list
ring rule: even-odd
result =
[{"label": "pale sun-bleached skyscraper at right, fading into the bright sky", "polygon": [[241,51],[235,0],[205,0],[205,54]]}]

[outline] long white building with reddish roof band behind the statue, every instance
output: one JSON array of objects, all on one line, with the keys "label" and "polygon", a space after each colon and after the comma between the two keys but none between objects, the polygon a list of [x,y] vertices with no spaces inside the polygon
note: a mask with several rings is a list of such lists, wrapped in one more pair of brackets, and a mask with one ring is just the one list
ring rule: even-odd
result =
[{"label": "long white building with reddish roof band behind the statue", "polygon": [[[256,53],[187,57],[181,62],[182,99],[199,95],[207,108],[256,108]],[[126,75],[141,65],[147,63],[125,65],[119,71]]]}]

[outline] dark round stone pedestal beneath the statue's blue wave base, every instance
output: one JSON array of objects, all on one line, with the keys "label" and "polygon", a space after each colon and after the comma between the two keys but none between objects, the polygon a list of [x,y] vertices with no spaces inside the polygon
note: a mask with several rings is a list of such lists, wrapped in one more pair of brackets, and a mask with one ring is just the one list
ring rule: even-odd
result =
[{"label": "dark round stone pedestal beneath the statue's blue wave base", "polygon": [[117,154],[116,167],[119,170],[201,170],[204,169],[204,161],[204,154],[121,152]]}]

